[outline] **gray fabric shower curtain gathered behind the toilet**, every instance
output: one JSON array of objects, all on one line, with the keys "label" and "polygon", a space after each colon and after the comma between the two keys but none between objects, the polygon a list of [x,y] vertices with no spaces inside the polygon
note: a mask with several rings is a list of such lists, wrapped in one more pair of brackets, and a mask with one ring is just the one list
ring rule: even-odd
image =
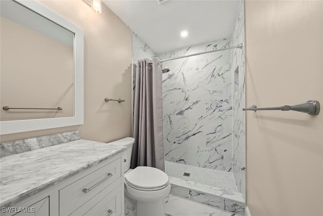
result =
[{"label": "gray fabric shower curtain gathered behind the toilet", "polygon": [[148,59],[138,60],[131,168],[152,166],[165,170],[161,87],[161,64],[158,59],[153,57],[152,65]]}]

